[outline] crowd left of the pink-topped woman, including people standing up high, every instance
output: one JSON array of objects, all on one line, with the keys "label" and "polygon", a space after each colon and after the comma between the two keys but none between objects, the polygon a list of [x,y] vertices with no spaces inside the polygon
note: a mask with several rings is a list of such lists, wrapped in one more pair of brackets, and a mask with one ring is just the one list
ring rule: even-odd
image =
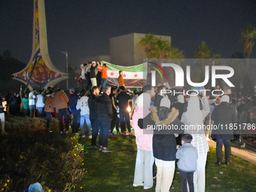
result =
[{"label": "crowd left of the pink-topped woman, including people standing up high", "polygon": [[[78,87],[75,91],[65,92],[64,90],[54,90],[47,87],[45,90],[31,90],[29,93],[8,92],[5,96],[6,113],[11,115],[21,115],[28,117],[46,117],[46,131],[50,130],[50,120],[52,117],[59,119],[59,131],[61,134],[81,131],[81,138],[88,136],[92,139],[92,147],[99,148],[103,152],[111,152],[107,148],[108,137],[113,134],[133,137],[130,126],[131,96],[126,93],[122,72],[120,71],[119,87],[106,86],[108,68],[99,62],[89,62],[81,64],[80,81],[83,82],[82,89]],[[101,72],[101,83],[96,81],[96,75]],[[136,92],[136,91],[135,91]],[[139,90],[137,90],[139,93]],[[99,96],[99,94],[101,94]],[[2,104],[2,102],[1,102]],[[2,133],[5,132],[5,113],[1,106]],[[132,107],[132,106],[131,106]],[[86,126],[85,126],[86,124]],[[127,131],[126,131],[127,127]],[[87,128],[85,133],[84,128]],[[99,145],[96,139],[99,134]]]}]

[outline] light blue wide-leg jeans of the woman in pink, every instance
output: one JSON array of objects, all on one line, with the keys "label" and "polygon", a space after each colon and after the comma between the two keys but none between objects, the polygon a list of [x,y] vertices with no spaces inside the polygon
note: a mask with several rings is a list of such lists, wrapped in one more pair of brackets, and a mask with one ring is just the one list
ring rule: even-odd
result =
[{"label": "light blue wide-leg jeans of the woman in pink", "polygon": [[133,179],[134,185],[141,185],[144,182],[144,187],[153,187],[153,164],[153,151],[145,151],[137,148],[136,166]]}]

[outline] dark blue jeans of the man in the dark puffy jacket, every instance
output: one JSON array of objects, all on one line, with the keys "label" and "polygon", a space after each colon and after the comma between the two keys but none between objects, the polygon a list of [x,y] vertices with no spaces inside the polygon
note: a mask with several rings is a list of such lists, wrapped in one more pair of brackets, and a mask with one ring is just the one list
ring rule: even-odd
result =
[{"label": "dark blue jeans of the man in the dark puffy jacket", "polygon": [[110,136],[110,119],[99,119],[99,145],[103,148],[108,146],[108,137]]}]

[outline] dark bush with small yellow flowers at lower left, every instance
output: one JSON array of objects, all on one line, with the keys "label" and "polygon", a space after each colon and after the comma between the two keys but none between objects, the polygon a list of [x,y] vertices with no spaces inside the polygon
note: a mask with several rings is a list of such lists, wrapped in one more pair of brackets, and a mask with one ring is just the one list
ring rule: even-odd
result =
[{"label": "dark bush with small yellow flowers at lower left", "polygon": [[44,191],[75,191],[86,174],[78,133],[61,135],[58,120],[45,132],[42,118],[8,116],[8,136],[0,136],[0,190],[23,191],[41,183]]}]

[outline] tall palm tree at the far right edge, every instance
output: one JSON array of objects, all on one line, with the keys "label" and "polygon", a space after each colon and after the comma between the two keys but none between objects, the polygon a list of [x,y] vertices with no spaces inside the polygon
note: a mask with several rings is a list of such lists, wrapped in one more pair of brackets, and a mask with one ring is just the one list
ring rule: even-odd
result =
[{"label": "tall palm tree at the far right edge", "polygon": [[248,72],[248,59],[251,54],[252,47],[254,46],[254,38],[256,38],[256,28],[247,24],[240,34],[240,42],[243,46],[245,58],[247,59],[246,71]]}]

